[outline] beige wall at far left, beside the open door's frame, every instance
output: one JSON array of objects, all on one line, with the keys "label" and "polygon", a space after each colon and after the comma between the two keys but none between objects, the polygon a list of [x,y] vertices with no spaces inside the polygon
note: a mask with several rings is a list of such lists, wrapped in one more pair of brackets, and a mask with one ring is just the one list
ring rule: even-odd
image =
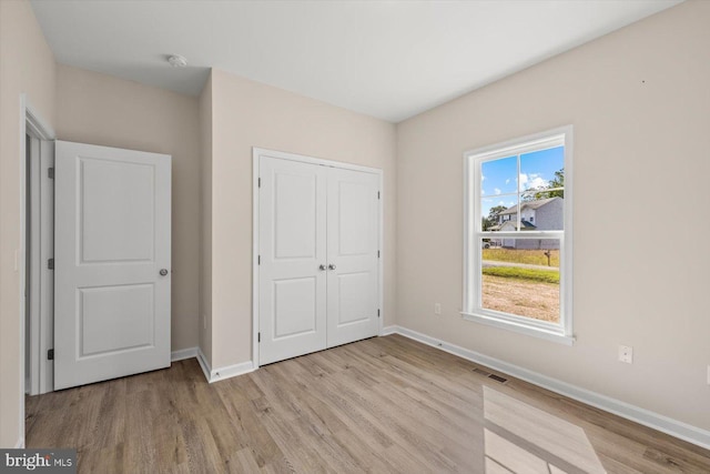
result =
[{"label": "beige wall at far left, beside the open door's frame", "polygon": [[54,123],[55,64],[30,3],[0,1],[0,446],[24,436],[20,424],[20,93]]}]

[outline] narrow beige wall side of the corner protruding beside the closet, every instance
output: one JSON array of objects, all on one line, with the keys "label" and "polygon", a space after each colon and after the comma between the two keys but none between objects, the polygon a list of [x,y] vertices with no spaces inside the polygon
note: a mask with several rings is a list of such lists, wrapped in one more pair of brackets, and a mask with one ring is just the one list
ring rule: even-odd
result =
[{"label": "narrow beige wall side of the corner protruding beside the closet", "polygon": [[200,95],[200,349],[212,364],[212,73]]}]

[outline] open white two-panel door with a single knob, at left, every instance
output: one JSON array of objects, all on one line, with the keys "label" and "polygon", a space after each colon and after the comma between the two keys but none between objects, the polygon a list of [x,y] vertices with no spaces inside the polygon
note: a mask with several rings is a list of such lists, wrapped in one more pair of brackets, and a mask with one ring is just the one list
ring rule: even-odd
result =
[{"label": "open white two-panel door with a single knob, at left", "polygon": [[54,389],[170,366],[171,158],[58,141]]}]

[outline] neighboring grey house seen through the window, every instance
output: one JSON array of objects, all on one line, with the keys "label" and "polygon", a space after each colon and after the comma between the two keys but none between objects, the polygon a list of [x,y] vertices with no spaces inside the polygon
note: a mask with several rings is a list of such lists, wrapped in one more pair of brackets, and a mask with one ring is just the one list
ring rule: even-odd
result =
[{"label": "neighboring grey house seen through the window", "polygon": [[[557,231],[564,225],[562,198],[548,198],[523,202],[520,226],[523,231]],[[491,231],[515,232],[518,230],[518,205],[498,213],[498,223]],[[493,239],[494,244],[510,249],[559,249],[559,241],[552,239]]]}]

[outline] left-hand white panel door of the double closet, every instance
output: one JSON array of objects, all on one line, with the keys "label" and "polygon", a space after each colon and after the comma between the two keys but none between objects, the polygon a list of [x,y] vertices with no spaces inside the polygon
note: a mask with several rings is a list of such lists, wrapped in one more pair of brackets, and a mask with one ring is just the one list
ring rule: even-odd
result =
[{"label": "left-hand white panel door of the double closet", "polygon": [[260,364],[325,349],[326,171],[260,158]]}]

